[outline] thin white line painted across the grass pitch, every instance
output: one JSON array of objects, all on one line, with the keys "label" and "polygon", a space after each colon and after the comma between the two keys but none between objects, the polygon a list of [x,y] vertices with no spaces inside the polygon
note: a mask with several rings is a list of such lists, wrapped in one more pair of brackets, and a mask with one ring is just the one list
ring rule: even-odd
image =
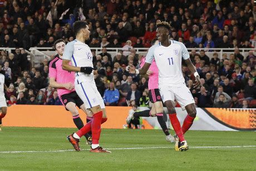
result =
[{"label": "thin white line painted across the grass pitch", "polygon": [[[256,145],[237,145],[237,146],[202,146],[202,147],[189,147],[189,148],[244,148],[244,147],[256,147]],[[131,147],[131,148],[106,148],[109,150],[126,150],[126,149],[158,149],[158,148],[172,148],[172,147]],[[90,150],[90,149],[82,149]],[[72,152],[73,149],[68,150],[46,150],[46,151],[7,151],[0,153],[57,153],[57,152]]]}]

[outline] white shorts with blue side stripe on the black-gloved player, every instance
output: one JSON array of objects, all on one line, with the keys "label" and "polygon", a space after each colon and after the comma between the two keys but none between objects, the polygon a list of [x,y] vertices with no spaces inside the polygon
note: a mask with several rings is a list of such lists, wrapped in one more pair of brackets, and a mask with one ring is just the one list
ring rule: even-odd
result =
[{"label": "white shorts with blue side stripe on the black-gloved player", "polygon": [[105,108],[104,101],[97,90],[97,87],[93,83],[81,82],[80,84],[75,84],[76,93],[85,103],[86,109],[90,109],[97,105],[100,105],[101,109]]}]

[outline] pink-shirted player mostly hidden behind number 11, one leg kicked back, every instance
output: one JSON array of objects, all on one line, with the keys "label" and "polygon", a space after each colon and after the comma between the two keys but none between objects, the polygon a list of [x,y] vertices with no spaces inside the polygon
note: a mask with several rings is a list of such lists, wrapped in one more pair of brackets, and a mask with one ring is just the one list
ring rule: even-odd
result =
[{"label": "pink-shirted player mostly hidden behind number 11, one leg kicked back", "polygon": [[[141,59],[140,67],[143,67],[145,64],[145,59]],[[129,115],[126,118],[126,123],[129,124],[134,117],[157,117],[157,121],[159,122],[161,128],[163,129],[166,140],[168,142],[174,142],[174,137],[169,133],[168,128],[166,127],[166,123],[164,121],[163,115],[163,103],[160,96],[160,92],[158,89],[158,68],[156,66],[155,60],[152,61],[152,64],[147,71],[149,75],[149,99],[152,104],[151,110],[144,110],[141,112],[135,112],[134,110],[129,110]]]}]

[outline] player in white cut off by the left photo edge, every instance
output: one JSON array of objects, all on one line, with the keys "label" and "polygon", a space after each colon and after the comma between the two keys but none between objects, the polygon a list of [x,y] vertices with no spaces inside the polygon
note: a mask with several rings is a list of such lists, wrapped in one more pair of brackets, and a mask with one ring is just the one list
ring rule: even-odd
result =
[{"label": "player in white cut off by the left photo edge", "polygon": [[2,110],[2,113],[0,114],[0,131],[2,131],[2,118],[4,118],[7,113],[6,98],[4,97],[4,89],[7,90],[7,86],[4,84],[4,71],[2,71],[2,66],[0,67],[0,107]]}]

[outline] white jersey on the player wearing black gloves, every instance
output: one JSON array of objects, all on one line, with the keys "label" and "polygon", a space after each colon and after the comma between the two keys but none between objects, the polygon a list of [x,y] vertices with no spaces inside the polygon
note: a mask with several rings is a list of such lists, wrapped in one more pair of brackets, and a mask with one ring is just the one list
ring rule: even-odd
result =
[{"label": "white jersey on the player wearing black gloves", "polygon": [[[93,67],[90,47],[83,42],[77,41],[77,39],[67,43],[62,58],[70,60],[75,67]],[[93,72],[91,74],[76,72],[75,84],[80,84],[81,82],[95,83]]]}]

